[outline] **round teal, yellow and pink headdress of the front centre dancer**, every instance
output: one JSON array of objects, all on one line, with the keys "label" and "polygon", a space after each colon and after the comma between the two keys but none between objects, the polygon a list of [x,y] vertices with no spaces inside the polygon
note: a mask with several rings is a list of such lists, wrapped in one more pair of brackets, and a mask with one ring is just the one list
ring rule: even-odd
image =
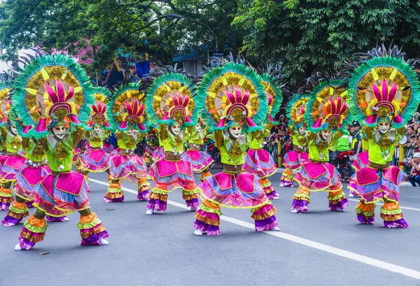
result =
[{"label": "round teal, yellow and pink headdress of the front centre dancer", "polygon": [[262,128],[268,113],[267,95],[260,76],[242,64],[228,63],[211,69],[197,90],[202,118],[210,130],[247,125]]}]

